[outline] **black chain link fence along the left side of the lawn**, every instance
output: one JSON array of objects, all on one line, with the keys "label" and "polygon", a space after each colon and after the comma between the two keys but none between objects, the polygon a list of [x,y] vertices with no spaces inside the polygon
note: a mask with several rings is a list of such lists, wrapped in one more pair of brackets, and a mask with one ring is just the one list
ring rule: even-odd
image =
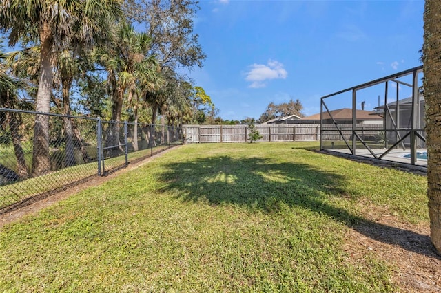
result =
[{"label": "black chain link fence along the left side of the lawn", "polygon": [[0,213],[181,143],[178,127],[0,108]]}]

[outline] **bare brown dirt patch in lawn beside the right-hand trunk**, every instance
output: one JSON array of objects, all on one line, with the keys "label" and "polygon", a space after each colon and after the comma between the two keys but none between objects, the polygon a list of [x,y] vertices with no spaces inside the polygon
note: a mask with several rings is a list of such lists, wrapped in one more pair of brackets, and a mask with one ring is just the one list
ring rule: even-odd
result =
[{"label": "bare brown dirt patch in lawn beside the right-hand trunk", "polygon": [[383,214],[349,230],[345,250],[351,262],[373,254],[389,263],[400,292],[441,292],[441,257],[429,235],[428,224],[412,226]]}]

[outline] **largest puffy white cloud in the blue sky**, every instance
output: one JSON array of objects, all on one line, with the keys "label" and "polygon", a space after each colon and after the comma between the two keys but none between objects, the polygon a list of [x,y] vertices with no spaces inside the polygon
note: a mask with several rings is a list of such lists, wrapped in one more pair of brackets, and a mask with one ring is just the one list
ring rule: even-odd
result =
[{"label": "largest puffy white cloud in the blue sky", "polygon": [[252,82],[249,85],[252,88],[265,87],[267,85],[265,80],[285,79],[288,76],[283,64],[275,60],[269,60],[267,65],[254,63],[249,67],[251,69],[246,73],[245,80]]}]

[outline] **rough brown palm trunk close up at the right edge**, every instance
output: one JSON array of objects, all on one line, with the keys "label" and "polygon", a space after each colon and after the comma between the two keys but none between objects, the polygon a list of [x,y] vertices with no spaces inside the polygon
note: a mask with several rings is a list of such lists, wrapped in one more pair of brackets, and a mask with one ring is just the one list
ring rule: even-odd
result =
[{"label": "rough brown palm trunk close up at the right edge", "polygon": [[441,1],[426,0],[424,7],[424,100],[426,101],[427,196],[431,241],[441,254]]}]

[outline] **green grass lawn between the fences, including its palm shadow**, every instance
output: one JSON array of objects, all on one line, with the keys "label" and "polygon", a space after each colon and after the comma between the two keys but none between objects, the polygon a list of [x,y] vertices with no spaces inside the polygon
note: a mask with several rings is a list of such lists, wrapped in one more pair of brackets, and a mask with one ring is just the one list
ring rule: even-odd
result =
[{"label": "green grass lawn between the fences, including its palm shadow", "polygon": [[314,146],[181,146],[3,226],[0,291],[395,292],[345,233],[366,206],[427,223],[426,178]]}]

